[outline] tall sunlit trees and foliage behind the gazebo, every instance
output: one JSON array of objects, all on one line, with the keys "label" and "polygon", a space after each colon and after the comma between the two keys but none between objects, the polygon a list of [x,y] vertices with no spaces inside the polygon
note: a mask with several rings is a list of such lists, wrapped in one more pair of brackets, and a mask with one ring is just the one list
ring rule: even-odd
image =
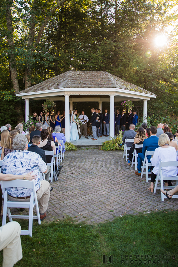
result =
[{"label": "tall sunlit trees and foliage behind the gazebo", "polygon": [[177,10],[176,0],[1,0],[0,124],[24,119],[16,92],[68,70],[110,72],[157,95],[149,116],[176,116]]}]

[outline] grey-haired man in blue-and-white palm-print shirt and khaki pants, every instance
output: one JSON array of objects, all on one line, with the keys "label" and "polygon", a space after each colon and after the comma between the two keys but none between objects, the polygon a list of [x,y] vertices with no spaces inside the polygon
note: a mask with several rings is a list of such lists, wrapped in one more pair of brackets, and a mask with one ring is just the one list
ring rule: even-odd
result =
[{"label": "grey-haired man in blue-and-white palm-print shirt and khaki pants", "polygon": [[[43,130],[46,131],[46,130]],[[37,190],[37,199],[39,200],[40,219],[46,217],[47,205],[50,197],[50,183],[48,181],[40,181],[40,172],[47,172],[47,165],[42,158],[34,152],[27,151],[28,144],[27,138],[24,135],[17,135],[13,139],[13,152],[4,157],[2,162],[3,174],[16,174],[25,175],[28,171],[33,171],[37,175],[35,179],[35,187]],[[7,188],[8,199],[10,201],[23,201],[30,200],[32,190],[28,188]]]}]

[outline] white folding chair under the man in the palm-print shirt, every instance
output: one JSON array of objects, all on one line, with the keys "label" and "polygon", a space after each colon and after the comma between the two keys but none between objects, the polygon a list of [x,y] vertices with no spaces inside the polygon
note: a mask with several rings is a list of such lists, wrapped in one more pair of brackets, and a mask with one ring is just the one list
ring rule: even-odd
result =
[{"label": "white folding chair under the man in the palm-print shirt", "polygon": [[[9,221],[12,222],[12,218],[16,219],[28,219],[28,230],[21,230],[21,235],[32,236],[33,219],[38,220],[38,224],[41,224],[40,212],[38,208],[37,193],[35,188],[35,180],[11,180],[11,181],[0,181],[2,194],[4,195],[4,205],[3,205],[3,216],[2,216],[2,226],[6,224],[6,214],[8,214]],[[24,187],[32,189],[30,195],[30,201],[9,201],[7,199],[7,187]],[[33,208],[36,206],[37,215],[33,215]],[[29,208],[29,215],[12,215],[9,208]]]}]

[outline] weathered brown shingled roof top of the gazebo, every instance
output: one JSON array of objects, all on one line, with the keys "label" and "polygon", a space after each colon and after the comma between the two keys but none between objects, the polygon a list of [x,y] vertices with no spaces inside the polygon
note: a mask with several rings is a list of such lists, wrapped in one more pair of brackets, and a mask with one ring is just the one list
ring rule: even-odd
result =
[{"label": "weathered brown shingled roof top of the gazebo", "polygon": [[[61,91],[67,88],[74,89],[80,88],[85,91],[86,88],[118,88],[121,90],[127,90],[132,92],[138,92],[139,95],[150,95],[150,97],[156,97],[155,94],[149,92],[135,84],[126,82],[115,75],[112,75],[105,71],[67,71],[58,76],[50,78],[44,82],[29,87],[19,93],[16,96],[25,96],[28,94],[37,94],[45,91]],[[92,91],[92,89],[91,89]],[[100,91],[101,92],[101,91]]]}]

